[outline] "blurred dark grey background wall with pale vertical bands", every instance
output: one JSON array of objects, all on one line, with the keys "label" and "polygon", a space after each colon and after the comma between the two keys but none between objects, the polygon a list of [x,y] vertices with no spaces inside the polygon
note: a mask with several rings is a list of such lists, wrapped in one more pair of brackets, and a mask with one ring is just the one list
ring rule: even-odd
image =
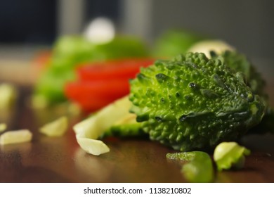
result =
[{"label": "blurred dark grey background wall with pale vertical bands", "polygon": [[0,46],[51,46],[58,36],[79,34],[93,18],[105,16],[118,32],[150,44],[179,27],[223,39],[248,56],[273,59],[273,8],[270,0],[8,0],[0,2]]}]

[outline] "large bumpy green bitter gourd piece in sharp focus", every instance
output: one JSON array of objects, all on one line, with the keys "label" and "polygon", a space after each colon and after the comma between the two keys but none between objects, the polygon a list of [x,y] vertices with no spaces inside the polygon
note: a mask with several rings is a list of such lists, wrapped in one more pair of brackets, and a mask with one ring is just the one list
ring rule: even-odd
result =
[{"label": "large bumpy green bitter gourd piece in sharp focus", "polygon": [[180,151],[234,141],[261,121],[266,108],[243,75],[203,53],[143,68],[131,80],[129,98],[150,139]]}]

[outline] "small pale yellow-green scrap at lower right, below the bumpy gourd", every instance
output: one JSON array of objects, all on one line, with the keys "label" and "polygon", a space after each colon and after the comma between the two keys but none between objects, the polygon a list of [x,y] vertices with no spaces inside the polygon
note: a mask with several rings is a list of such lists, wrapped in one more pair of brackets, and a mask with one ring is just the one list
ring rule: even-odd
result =
[{"label": "small pale yellow-green scrap at lower right, below the bumpy gourd", "polygon": [[234,141],[222,142],[214,150],[214,161],[219,171],[230,168],[240,169],[244,166],[244,156],[249,154],[249,149]]}]

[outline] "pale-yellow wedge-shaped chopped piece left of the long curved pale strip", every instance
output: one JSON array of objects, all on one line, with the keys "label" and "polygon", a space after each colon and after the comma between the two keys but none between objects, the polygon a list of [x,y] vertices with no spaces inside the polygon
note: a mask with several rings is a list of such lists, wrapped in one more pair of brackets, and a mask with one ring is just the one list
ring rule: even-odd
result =
[{"label": "pale-yellow wedge-shaped chopped piece left of the long curved pale strip", "polygon": [[66,116],[59,117],[53,122],[48,122],[40,128],[40,132],[46,136],[63,136],[67,131],[68,120]]}]

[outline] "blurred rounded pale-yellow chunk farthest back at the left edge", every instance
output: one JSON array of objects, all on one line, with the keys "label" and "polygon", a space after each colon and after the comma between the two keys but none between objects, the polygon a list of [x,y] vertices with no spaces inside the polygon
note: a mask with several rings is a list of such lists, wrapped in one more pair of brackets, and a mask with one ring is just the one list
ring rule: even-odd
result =
[{"label": "blurred rounded pale-yellow chunk farthest back at the left edge", "polygon": [[0,109],[11,108],[17,97],[17,89],[13,84],[0,84]]}]

